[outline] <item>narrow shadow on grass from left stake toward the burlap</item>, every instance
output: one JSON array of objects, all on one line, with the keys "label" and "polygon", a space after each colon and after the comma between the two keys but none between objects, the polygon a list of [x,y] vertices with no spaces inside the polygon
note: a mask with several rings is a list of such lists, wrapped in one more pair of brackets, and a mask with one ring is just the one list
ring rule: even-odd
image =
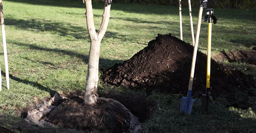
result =
[{"label": "narrow shadow on grass from left stake toward the burlap", "polygon": [[[1,71],[1,74],[3,76],[5,76],[5,72]],[[51,97],[53,97],[54,94],[57,93],[57,91],[54,91],[54,90],[52,90],[52,89],[50,89],[48,87],[42,86],[40,83],[37,83],[37,82],[29,81],[27,79],[20,79],[20,78],[15,77],[15,76],[10,76],[9,78],[13,79],[15,81],[18,81],[20,83],[24,83],[24,84],[27,84],[27,85],[32,85],[33,87],[37,87],[37,88],[39,88],[42,91],[47,91],[47,92],[49,92],[51,94]]]}]

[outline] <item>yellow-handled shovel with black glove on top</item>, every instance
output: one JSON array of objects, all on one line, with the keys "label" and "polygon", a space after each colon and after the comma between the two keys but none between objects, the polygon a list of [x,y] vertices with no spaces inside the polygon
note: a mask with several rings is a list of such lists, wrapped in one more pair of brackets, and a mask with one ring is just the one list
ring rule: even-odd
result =
[{"label": "yellow-handled shovel with black glove on top", "polygon": [[210,111],[210,70],[211,70],[211,38],[212,38],[212,21],[217,23],[218,18],[214,15],[213,9],[206,10],[204,21],[208,21],[208,48],[207,48],[207,76],[206,76],[206,94],[202,95],[202,109]]}]

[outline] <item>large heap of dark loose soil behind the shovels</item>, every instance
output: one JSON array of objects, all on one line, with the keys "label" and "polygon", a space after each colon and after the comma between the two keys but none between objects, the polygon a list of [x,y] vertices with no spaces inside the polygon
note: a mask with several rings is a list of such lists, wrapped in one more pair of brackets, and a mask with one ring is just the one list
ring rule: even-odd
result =
[{"label": "large heap of dark loose soil behind the shovels", "polygon": [[[123,63],[103,71],[103,83],[122,85],[132,89],[144,89],[187,95],[193,46],[169,35],[158,34],[155,40]],[[200,97],[206,89],[207,56],[197,51],[193,80],[193,96]],[[237,102],[235,90],[255,95],[249,88],[254,86],[250,75],[234,71],[211,59],[211,96],[226,97]]]}]

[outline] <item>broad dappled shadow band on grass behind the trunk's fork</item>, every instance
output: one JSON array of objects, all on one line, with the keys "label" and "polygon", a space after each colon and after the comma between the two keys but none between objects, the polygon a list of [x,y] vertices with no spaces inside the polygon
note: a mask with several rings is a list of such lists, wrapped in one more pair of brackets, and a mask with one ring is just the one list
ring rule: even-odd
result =
[{"label": "broad dappled shadow band on grass behind the trunk's fork", "polygon": [[[7,26],[15,26],[21,30],[29,30],[33,32],[40,31],[50,31],[51,34],[59,34],[60,36],[76,39],[86,39],[90,40],[88,30],[85,26],[79,26],[77,24],[64,23],[64,22],[51,22],[44,19],[14,19],[14,18],[6,18],[5,25]],[[44,25],[44,26],[42,26]],[[97,30],[96,30],[97,32]],[[120,39],[123,42],[126,41],[134,41],[129,38],[126,38],[126,35],[119,34],[117,32],[106,31],[104,38],[115,38]],[[104,40],[103,38],[103,40]]]}]

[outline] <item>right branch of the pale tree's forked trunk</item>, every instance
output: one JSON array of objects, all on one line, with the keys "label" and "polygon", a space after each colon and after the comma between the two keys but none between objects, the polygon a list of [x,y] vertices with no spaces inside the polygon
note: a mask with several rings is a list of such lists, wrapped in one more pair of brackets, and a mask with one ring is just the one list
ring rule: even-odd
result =
[{"label": "right branch of the pale tree's forked trunk", "polygon": [[98,35],[99,40],[101,40],[106,33],[107,27],[108,27],[108,21],[110,18],[110,6],[111,6],[112,0],[105,0],[105,7],[104,7],[104,13],[102,15],[102,22],[99,27]]}]

